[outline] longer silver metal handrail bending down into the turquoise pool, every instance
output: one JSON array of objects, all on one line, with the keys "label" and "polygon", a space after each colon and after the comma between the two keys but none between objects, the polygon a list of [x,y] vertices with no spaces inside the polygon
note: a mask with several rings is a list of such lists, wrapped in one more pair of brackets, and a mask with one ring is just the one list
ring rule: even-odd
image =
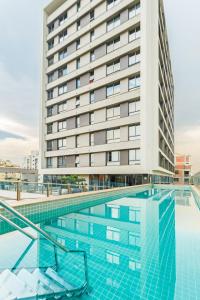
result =
[{"label": "longer silver metal handrail bending down into the turquoise pool", "polygon": [[[40,233],[45,239],[47,239],[53,246],[57,246],[61,250],[63,250],[65,253],[82,253],[84,257],[84,267],[85,267],[85,283],[83,284],[83,287],[87,286],[89,288],[89,277],[88,277],[88,264],[87,264],[87,253],[84,250],[69,250],[59,242],[57,242],[56,239],[52,238],[48,233],[46,233],[44,230],[39,228],[37,225],[35,225],[33,222],[31,222],[28,218],[23,216],[20,212],[18,212],[16,209],[11,207],[9,204],[5,203],[4,201],[0,200],[0,206],[2,206],[7,211],[11,212],[14,216],[20,219],[24,224],[30,226],[32,229]],[[3,217],[1,215],[1,217]],[[10,222],[10,225],[12,224],[17,230],[20,230],[20,232],[27,234],[23,229],[21,229],[18,225],[13,223],[12,221],[8,220],[6,217],[3,217],[6,222]],[[31,239],[34,239],[32,235],[29,236]]]}]

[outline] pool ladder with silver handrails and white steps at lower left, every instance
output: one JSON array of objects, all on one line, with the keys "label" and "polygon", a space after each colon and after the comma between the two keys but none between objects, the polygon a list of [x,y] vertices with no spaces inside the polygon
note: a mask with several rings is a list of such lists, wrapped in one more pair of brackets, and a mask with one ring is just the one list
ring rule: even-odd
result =
[{"label": "pool ladder with silver handrails and white steps at lower left", "polygon": [[[0,214],[0,219],[10,226],[31,239],[30,244],[23,252],[21,257],[15,263],[11,270],[4,269],[0,272],[0,300],[21,300],[21,299],[68,299],[79,297],[84,293],[89,293],[89,278],[88,278],[88,265],[87,265],[87,253],[84,250],[69,250],[56,239],[39,228],[28,218],[19,213],[16,209],[11,207],[5,201],[0,200],[0,206],[7,212],[11,213],[18,220],[23,222],[25,226],[28,226],[40,234],[46,239],[54,248],[55,266],[34,268],[29,271],[29,268],[18,268],[24,256],[28,253],[34,242],[38,239],[31,233],[25,231],[22,227],[14,223],[5,215]],[[80,287],[72,286],[63,277],[58,274],[59,260],[57,255],[57,249],[62,250],[64,253],[77,253],[82,254],[84,259],[84,282]]]}]

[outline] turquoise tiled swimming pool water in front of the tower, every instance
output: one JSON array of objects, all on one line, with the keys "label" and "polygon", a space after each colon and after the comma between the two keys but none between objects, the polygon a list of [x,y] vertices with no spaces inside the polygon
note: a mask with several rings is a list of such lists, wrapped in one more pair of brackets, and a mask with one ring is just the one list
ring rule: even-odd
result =
[{"label": "turquoise tiled swimming pool water in front of the tower", "polygon": [[[200,213],[190,188],[112,196],[73,213],[60,211],[41,228],[66,247],[87,252],[92,290],[83,299],[200,298]],[[0,235],[0,267],[10,267],[26,245],[19,232]],[[79,281],[79,261],[58,256],[60,272],[69,276],[70,269],[69,280]],[[42,240],[21,264],[34,267],[38,260],[52,260]]]}]

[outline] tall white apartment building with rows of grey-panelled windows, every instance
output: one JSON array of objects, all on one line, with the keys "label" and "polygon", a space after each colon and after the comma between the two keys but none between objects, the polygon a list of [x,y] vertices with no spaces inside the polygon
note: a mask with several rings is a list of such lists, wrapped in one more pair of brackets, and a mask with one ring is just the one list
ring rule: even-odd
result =
[{"label": "tall white apartment building with rows of grey-panelled windows", "polygon": [[41,174],[169,182],[174,84],[162,0],[54,0],[44,9]]}]

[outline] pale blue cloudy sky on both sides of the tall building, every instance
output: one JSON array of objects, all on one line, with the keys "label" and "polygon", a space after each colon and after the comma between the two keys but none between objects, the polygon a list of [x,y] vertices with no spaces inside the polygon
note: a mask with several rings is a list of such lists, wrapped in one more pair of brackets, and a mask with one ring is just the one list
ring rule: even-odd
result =
[{"label": "pale blue cloudy sky on both sides of the tall building", "polygon": [[[0,0],[0,158],[38,148],[42,9],[49,0]],[[175,81],[177,153],[200,170],[200,2],[164,0]],[[189,3],[189,5],[188,5]]]}]

